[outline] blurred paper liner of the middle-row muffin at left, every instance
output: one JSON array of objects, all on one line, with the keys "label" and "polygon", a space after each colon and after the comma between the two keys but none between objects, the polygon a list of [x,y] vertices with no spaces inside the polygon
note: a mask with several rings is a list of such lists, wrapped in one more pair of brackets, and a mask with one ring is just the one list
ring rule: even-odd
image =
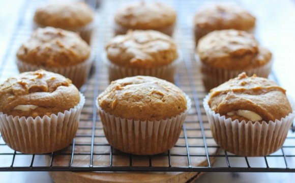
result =
[{"label": "blurred paper liner of the middle-row muffin at left", "polygon": [[73,66],[68,66],[68,67],[47,67],[47,66],[31,65],[17,58],[16,58],[16,65],[20,73],[35,71],[38,69],[44,69],[54,73],[62,74],[63,76],[72,80],[73,84],[77,88],[80,88],[87,81],[93,61],[94,61],[94,55],[91,54],[91,56],[85,62],[82,62],[77,65],[73,65]]}]

